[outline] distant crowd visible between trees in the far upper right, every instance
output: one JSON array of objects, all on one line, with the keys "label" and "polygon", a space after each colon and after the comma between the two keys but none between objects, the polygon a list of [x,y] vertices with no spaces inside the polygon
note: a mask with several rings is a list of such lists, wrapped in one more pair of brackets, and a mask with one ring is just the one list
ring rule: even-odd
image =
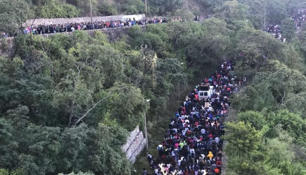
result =
[{"label": "distant crowd visible between trees in the far upper right", "polygon": [[[306,10],[299,10],[293,15],[291,15],[291,19],[295,23],[295,29],[300,29],[302,23],[305,21]],[[282,25],[281,22],[278,22],[275,25],[270,25],[266,32],[271,33],[278,40],[285,42],[285,38],[282,38]]]}]

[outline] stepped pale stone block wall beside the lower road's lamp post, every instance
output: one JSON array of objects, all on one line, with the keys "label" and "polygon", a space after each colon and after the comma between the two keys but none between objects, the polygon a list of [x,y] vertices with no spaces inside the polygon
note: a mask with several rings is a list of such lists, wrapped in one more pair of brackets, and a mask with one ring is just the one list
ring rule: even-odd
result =
[{"label": "stepped pale stone block wall beside the lower road's lamp post", "polygon": [[126,157],[132,163],[135,163],[136,157],[146,146],[146,139],[142,131],[139,131],[139,126],[134,131],[130,132],[130,136],[126,143],[121,147],[121,150],[126,153]]}]

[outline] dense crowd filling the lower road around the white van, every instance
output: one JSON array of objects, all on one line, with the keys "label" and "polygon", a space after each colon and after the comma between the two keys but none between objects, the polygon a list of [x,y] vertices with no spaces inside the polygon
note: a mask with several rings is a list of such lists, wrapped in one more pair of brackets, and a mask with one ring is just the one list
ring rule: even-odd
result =
[{"label": "dense crowd filling the lower road around the white van", "polygon": [[[223,140],[220,137],[224,135],[229,98],[245,81],[230,76],[234,67],[234,62],[224,62],[201,81],[201,84],[214,86],[211,97],[199,98],[199,84],[185,97],[174,113],[162,143],[157,146],[158,156],[147,155],[153,175],[174,171],[179,175],[221,174]],[[143,169],[142,175],[147,174]]]}]

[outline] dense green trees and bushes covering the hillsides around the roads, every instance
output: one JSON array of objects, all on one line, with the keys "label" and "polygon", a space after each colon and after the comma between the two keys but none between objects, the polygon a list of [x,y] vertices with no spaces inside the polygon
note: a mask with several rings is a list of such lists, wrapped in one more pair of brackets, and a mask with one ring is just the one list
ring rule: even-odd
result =
[{"label": "dense green trees and bushes covering the hillsides around the roads", "polygon": [[[88,2],[0,0],[0,31],[34,17],[88,16]],[[92,3],[96,15],[144,12],[141,0]],[[171,16],[186,12],[184,3],[148,0],[148,11]],[[225,60],[247,78],[230,98],[226,173],[306,174],[306,28],[288,18],[303,1],[194,0],[188,8],[214,17],[134,26],[112,43],[99,31],[17,36],[15,55],[0,57],[0,174],[139,173],[146,155],[131,165],[121,151],[128,132],[143,127],[146,112],[157,154],[177,82],[194,85]],[[280,21],[285,43],[261,30]]]}]

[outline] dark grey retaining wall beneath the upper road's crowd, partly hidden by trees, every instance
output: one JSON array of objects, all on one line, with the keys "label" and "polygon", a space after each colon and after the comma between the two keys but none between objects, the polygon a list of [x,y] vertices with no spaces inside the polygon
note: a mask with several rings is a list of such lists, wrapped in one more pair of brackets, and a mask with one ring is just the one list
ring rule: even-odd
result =
[{"label": "dark grey retaining wall beneath the upper road's crowd, partly hidden by trees", "polygon": [[[116,27],[116,28],[109,28],[109,29],[96,29],[96,30],[85,30],[90,36],[94,35],[95,31],[102,31],[108,37],[110,42],[114,42],[120,39],[122,36],[127,35],[129,31],[128,26],[126,27]],[[146,26],[142,25],[142,29],[145,29]],[[43,35],[35,35],[34,37],[43,37],[47,38],[53,35],[71,35],[73,32],[62,32],[62,33],[50,33],[50,34],[43,34]],[[7,38],[0,38],[0,56],[13,56],[15,53],[14,47],[14,37],[7,37]]]}]

